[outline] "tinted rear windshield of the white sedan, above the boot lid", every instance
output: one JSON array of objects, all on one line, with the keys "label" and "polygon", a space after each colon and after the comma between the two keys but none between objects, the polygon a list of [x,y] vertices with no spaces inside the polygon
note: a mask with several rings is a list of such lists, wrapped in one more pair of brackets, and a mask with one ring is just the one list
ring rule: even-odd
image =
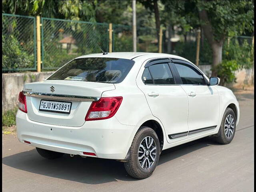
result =
[{"label": "tinted rear windshield of the white sedan, above the boot lid", "polygon": [[120,58],[79,58],[56,71],[48,80],[77,80],[120,83],[134,65],[133,60]]}]

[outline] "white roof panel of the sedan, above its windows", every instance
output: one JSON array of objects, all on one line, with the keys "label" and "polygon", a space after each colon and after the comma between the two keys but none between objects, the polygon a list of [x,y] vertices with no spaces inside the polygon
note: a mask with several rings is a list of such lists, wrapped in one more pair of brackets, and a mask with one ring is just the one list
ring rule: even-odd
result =
[{"label": "white roof panel of the sedan, above its windows", "polygon": [[[146,52],[112,52],[112,53],[108,53],[105,55],[103,55],[103,53],[96,53],[96,54],[83,55],[83,56],[77,57],[76,59],[88,58],[88,57],[134,59],[134,58],[140,57],[140,56],[146,56],[146,58],[170,57],[170,58],[176,58],[176,59],[182,59],[182,60],[188,61],[187,59],[182,58],[177,55],[171,55],[171,54],[165,54],[165,53],[146,53]],[[188,62],[190,62],[190,61],[188,61]]]}]

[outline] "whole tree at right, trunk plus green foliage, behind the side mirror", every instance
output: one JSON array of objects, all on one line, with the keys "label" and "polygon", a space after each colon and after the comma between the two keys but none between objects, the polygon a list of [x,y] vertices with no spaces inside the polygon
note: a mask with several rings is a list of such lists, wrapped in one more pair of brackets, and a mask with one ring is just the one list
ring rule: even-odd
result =
[{"label": "whole tree at right, trunk plus green foliage, behind the side mirror", "polygon": [[252,0],[195,2],[204,34],[212,47],[212,74],[217,75],[225,38],[254,30],[254,3]]}]

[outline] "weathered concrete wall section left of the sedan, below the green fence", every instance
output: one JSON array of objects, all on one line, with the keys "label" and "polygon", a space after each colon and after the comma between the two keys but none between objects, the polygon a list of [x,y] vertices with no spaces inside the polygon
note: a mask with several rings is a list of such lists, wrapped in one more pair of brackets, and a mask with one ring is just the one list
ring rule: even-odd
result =
[{"label": "weathered concrete wall section left of the sedan, below the green fence", "polygon": [[18,103],[18,94],[25,83],[42,81],[53,72],[3,73],[2,111],[13,109]]}]

